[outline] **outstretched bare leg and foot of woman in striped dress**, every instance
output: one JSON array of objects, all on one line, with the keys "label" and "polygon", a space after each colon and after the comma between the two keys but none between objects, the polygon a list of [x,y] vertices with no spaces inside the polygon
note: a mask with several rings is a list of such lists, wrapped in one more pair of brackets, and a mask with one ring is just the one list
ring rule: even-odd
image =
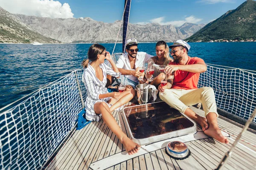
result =
[{"label": "outstretched bare leg and foot of woman in striped dress", "polygon": [[140,145],[133,142],[128,138],[128,136],[125,135],[125,133],[123,133],[105,102],[97,102],[94,105],[94,111],[96,114],[102,114],[102,119],[104,120],[105,124],[110,128],[110,130],[112,130],[113,133],[115,133],[129,155],[133,155],[140,150]]}]

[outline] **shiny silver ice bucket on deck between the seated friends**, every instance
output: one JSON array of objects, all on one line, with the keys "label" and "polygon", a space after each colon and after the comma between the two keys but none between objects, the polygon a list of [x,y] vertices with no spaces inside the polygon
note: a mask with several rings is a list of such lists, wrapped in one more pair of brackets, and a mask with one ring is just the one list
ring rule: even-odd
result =
[{"label": "shiny silver ice bucket on deck between the seated friends", "polygon": [[136,86],[137,98],[140,105],[146,104],[151,99],[151,88],[145,88],[148,84],[140,84]]}]

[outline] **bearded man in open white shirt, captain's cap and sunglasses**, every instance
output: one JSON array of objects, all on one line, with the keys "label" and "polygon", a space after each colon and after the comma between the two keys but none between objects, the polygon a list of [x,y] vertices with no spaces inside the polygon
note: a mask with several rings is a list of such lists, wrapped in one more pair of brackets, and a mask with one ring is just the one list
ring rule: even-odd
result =
[{"label": "bearded man in open white shirt, captain's cap and sunglasses", "polygon": [[[125,42],[125,51],[127,53],[120,56],[119,60],[116,63],[116,67],[119,72],[122,73],[125,77],[125,85],[128,88],[136,88],[136,85],[139,84],[138,78],[140,76],[144,76],[145,73],[140,72],[140,68],[142,68],[145,62],[150,59],[151,55],[145,52],[138,52],[138,42],[135,38],[131,38]],[[116,82],[120,85],[123,76],[120,76],[119,79],[116,79]]]}]

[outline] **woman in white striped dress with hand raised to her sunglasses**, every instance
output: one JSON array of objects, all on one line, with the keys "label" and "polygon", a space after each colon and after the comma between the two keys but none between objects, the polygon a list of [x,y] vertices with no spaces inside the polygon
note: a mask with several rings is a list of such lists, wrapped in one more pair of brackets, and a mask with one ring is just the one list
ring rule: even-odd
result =
[{"label": "woman in white striped dress with hand raised to her sunglasses", "polygon": [[[82,62],[84,66],[83,80],[87,90],[85,101],[86,119],[99,121],[104,120],[105,124],[116,134],[120,142],[124,145],[129,155],[137,153],[140,145],[131,141],[117,124],[111,112],[130,101],[134,95],[134,89],[122,93],[108,93],[105,85],[107,83],[107,74],[119,77],[119,71],[113,62],[111,55],[105,47],[99,44],[93,44],[88,50],[88,59]],[[113,68],[104,64],[107,59]],[[91,63],[89,64],[89,60]]]}]

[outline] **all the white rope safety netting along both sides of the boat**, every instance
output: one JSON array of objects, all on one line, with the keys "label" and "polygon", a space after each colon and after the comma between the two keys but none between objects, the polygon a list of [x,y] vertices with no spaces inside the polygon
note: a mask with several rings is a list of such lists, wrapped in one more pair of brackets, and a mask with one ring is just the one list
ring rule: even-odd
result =
[{"label": "all the white rope safety netting along both sides of the boat", "polygon": [[[113,56],[115,63],[120,55]],[[82,74],[82,69],[73,71],[19,103],[1,109],[0,169],[41,169],[44,166],[76,125],[77,115],[83,108],[82,100],[86,99]],[[256,107],[256,74],[207,64],[198,86],[212,87],[219,108],[246,119]]]}]

